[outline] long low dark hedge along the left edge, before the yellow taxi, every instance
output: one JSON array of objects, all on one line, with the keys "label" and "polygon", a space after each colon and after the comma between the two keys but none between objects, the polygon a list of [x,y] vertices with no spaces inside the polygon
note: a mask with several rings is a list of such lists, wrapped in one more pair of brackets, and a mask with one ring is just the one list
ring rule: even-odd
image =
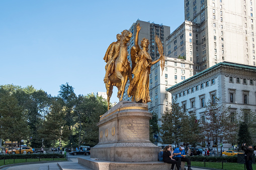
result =
[{"label": "long low dark hedge along the left edge, before the yellow taxi", "polygon": [[25,159],[25,158],[64,158],[64,154],[47,153],[47,154],[0,154],[0,159]]}]

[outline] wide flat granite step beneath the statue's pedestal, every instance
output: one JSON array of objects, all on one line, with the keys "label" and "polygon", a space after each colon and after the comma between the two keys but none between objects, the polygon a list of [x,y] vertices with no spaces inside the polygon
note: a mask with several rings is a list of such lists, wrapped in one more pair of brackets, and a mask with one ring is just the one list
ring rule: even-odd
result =
[{"label": "wide flat granite step beneath the statue's pedestal", "polygon": [[118,161],[107,161],[107,160],[96,160],[90,157],[81,158],[78,157],[78,163],[87,166],[95,170],[123,170],[123,169],[133,169],[133,170],[169,170],[172,164],[164,163],[162,161],[147,161],[147,162],[118,162]]}]

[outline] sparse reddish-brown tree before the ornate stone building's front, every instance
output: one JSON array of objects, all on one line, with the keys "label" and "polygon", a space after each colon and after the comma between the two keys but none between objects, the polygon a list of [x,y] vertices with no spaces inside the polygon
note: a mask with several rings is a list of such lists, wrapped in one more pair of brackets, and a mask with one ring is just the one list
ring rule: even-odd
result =
[{"label": "sparse reddish-brown tree before the ornate stone building's front", "polygon": [[[217,142],[228,142],[236,136],[236,123],[231,122],[229,107],[220,104],[219,98],[209,100],[205,107],[204,136]],[[218,147],[217,147],[218,153]]]}]

